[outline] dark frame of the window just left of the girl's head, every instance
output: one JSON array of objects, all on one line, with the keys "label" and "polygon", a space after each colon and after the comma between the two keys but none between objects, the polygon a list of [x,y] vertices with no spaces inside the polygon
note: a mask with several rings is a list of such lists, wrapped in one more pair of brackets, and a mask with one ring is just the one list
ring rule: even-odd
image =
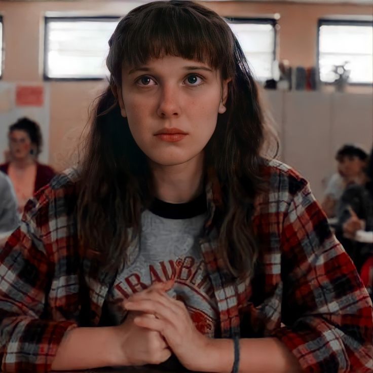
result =
[{"label": "dark frame of the window just left of the girl's head", "polygon": [[43,53],[43,80],[44,81],[60,81],[60,82],[79,82],[79,81],[100,81],[105,77],[76,77],[76,78],[55,78],[47,75],[47,54],[48,54],[48,23],[51,21],[58,22],[80,22],[80,21],[105,21],[118,20],[121,16],[44,16],[44,53]]}]

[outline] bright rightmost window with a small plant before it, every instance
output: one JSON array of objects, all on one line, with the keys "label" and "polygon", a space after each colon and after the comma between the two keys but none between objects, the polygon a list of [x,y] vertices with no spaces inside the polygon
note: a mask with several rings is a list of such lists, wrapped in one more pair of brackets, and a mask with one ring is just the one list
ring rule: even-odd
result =
[{"label": "bright rightmost window with a small plant before it", "polygon": [[318,31],[321,82],[334,82],[334,65],[347,62],[349,83],[373,83],[373,22],[319,20]]}]

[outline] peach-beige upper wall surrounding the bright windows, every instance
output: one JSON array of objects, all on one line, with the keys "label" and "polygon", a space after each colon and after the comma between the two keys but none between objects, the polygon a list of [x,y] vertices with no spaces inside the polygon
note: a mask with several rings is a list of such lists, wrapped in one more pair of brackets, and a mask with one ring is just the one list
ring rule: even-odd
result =
[{"label": "peach-beige upper wall surrounding the bright windows", "polygon": [[[43,17],[46,12],[76,12],[84,15],[124,15],[140,2],[2,2],[5,60],[3,81],[42,82]],[[317,20],[328,15],[371,15],[363,5],[322,5],[288,2],[207,2],[222,16],[260,16],[279,13],[278,57],[291,65],[316,63]],[[104,82],[50,82],[49,162],[66,167],[74,139],[87,122],[87,108]],[[366,88],[371,91],[371,87]],[[290,160],[289,160],[290,161]]]}]

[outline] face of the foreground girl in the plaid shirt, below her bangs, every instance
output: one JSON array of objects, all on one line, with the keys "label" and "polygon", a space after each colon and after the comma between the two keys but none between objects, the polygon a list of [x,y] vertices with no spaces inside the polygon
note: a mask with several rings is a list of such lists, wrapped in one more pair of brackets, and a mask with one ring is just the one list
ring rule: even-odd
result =
[{"label": "face of the foreground girl in the plaid shirt, below her bangs", "polygon": [[226,111],[228,82],[205,63],[174,56],[123,69],[122,116],[151,164],[178,165],[202,155],[218,113]]}]

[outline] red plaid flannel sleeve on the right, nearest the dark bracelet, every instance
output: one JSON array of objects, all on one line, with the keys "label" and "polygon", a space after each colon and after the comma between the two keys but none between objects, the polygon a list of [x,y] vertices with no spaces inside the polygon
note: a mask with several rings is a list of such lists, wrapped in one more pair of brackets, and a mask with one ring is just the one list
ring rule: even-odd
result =
[{"label": "red plaid flannel sleeve on the right, nearest the dark bracelet", "polygon": [[282,322],[273,336],[305,372],[373,370],[369,295],[309,185],[298,180],[282,228]]}]

